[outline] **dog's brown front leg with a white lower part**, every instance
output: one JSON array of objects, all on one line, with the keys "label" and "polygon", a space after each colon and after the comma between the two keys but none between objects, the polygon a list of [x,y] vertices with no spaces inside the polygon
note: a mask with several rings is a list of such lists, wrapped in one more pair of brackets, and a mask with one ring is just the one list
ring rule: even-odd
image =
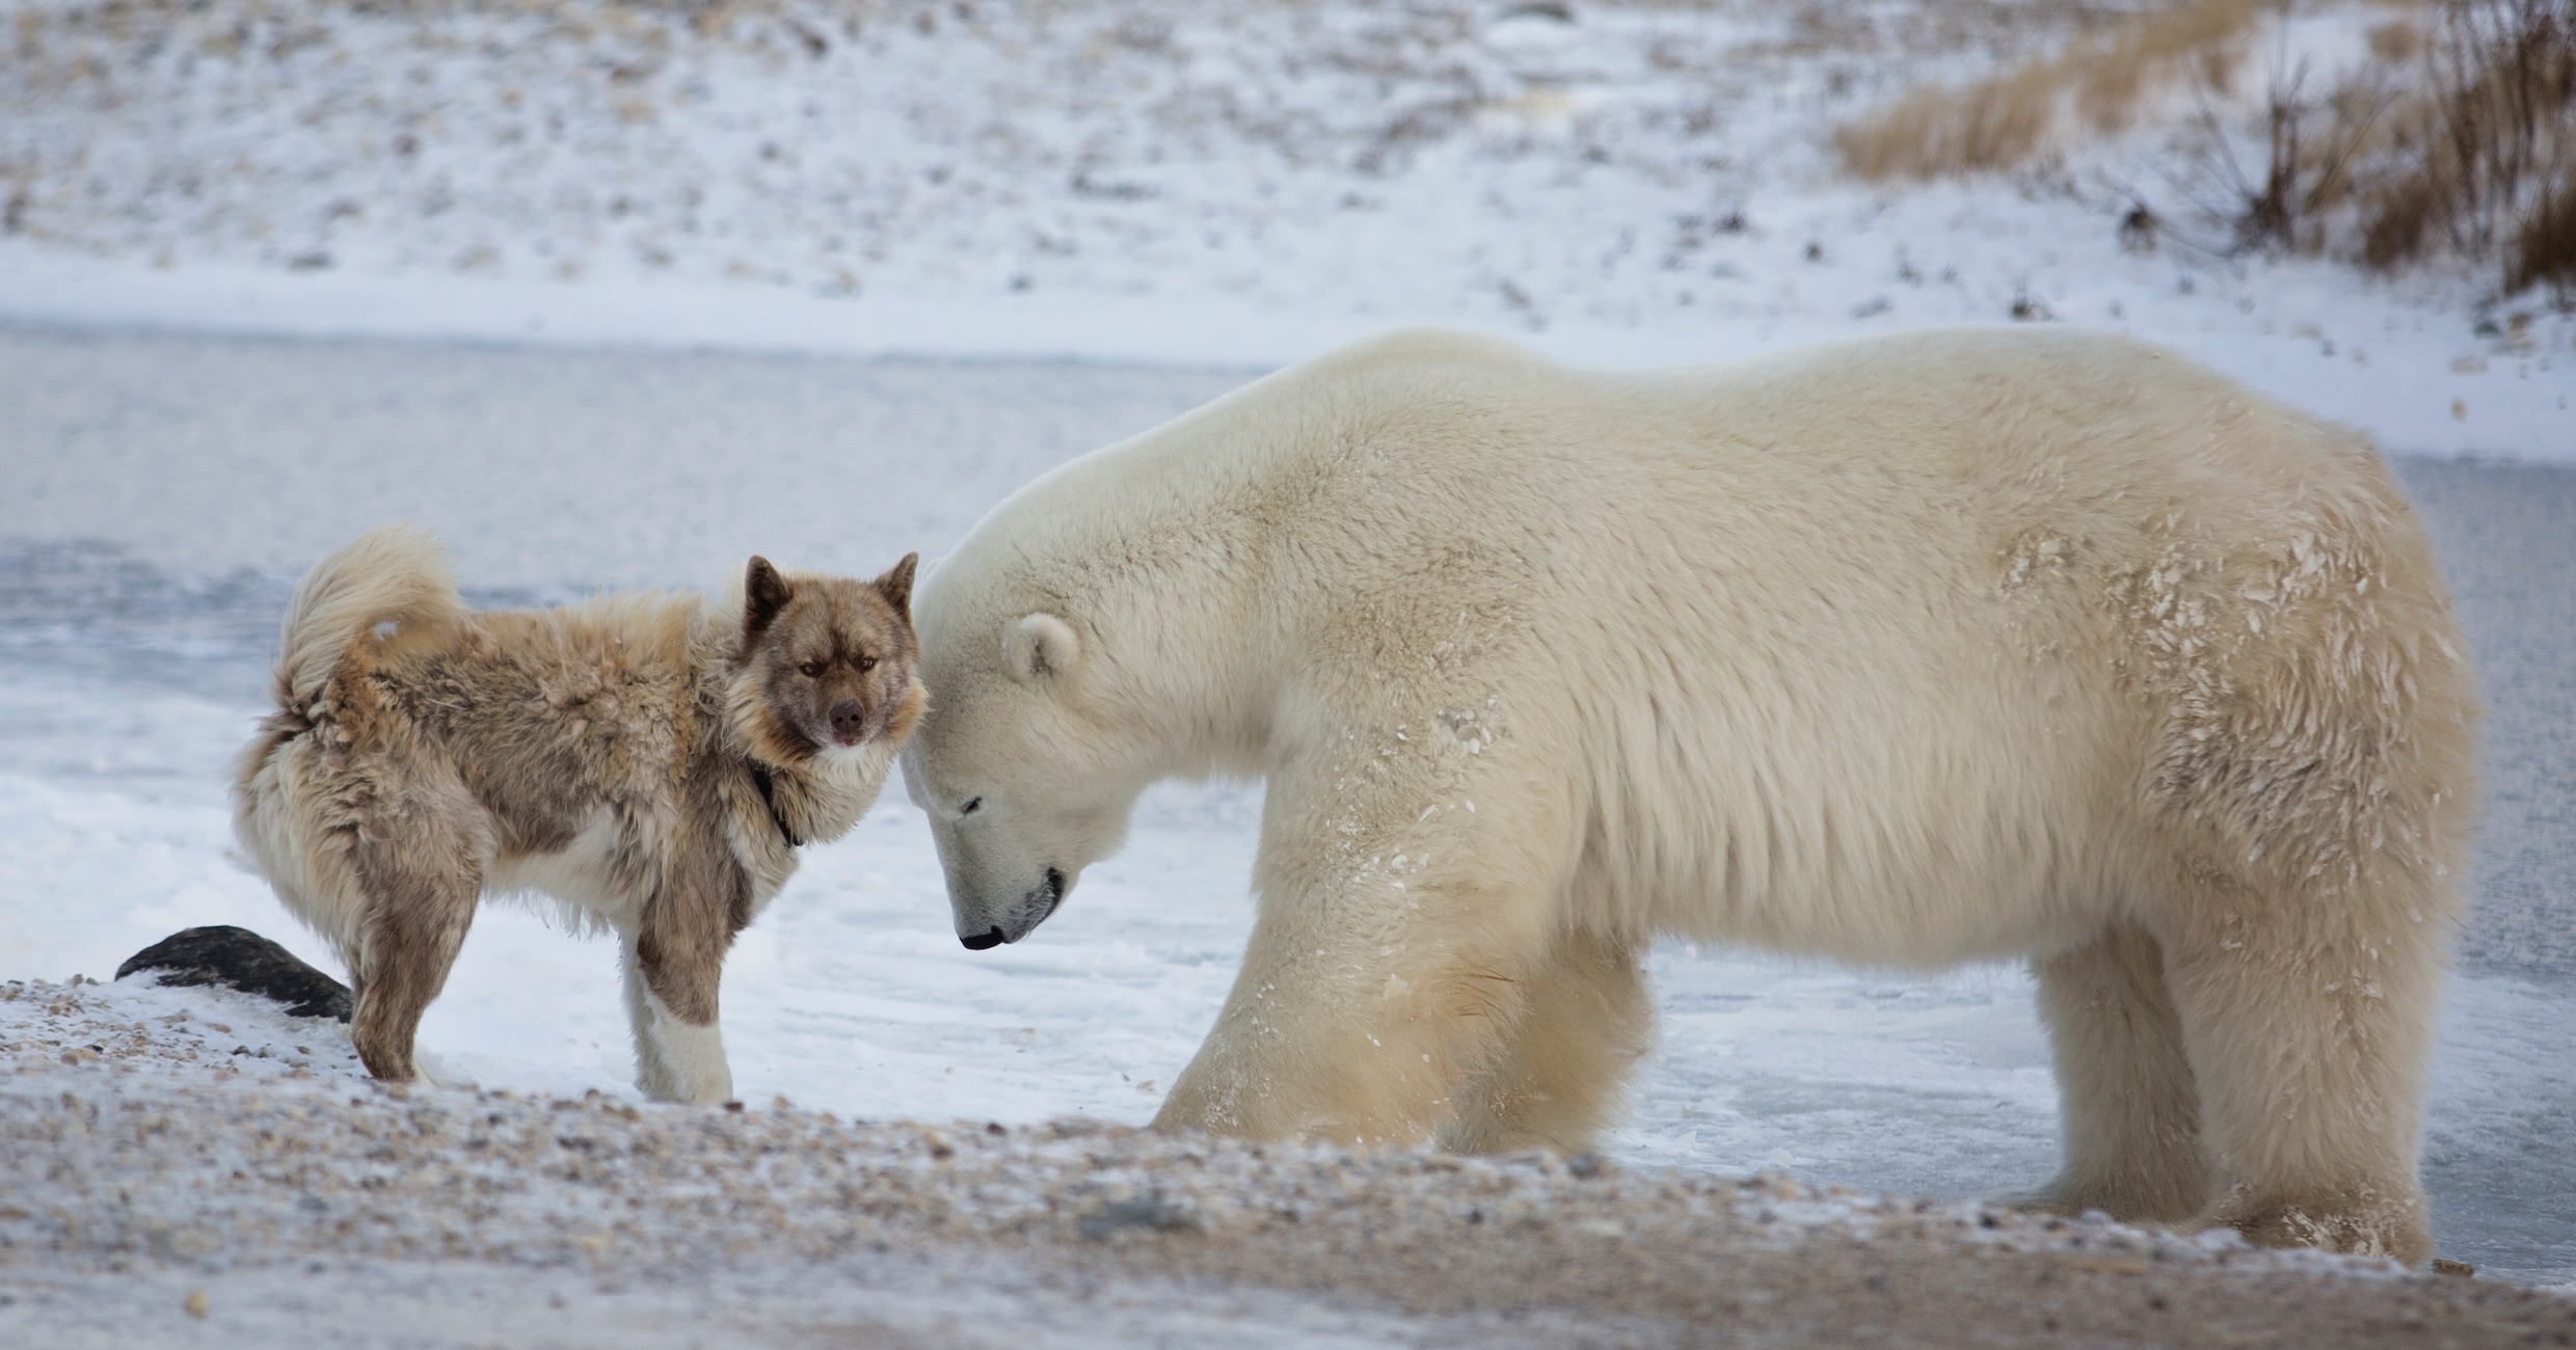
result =
[{"label": "dog's brown front leg with a white lower part", "polygon": [[750,915],[750,879],[698,850],[654,897],[631,943],[626,1010],[636,1025],[636,1087],[665,1103],[729,1103],[734,1072],[716,1031],[724,951]]}]

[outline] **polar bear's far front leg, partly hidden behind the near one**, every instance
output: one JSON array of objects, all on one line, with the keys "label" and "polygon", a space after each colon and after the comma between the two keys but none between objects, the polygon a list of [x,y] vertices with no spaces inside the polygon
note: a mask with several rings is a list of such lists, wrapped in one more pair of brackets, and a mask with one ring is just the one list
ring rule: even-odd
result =
[{"label": "polar bear's far front leg, partly hidden behind the near one", "polygon": [[1520,989],[1520,1020],[1502,1051],[1458,1090],[1458,1118],[1440,1131],[1448,1149],[1592,1146],[1654,1036],[1654,1000],[1628,943],[1566,935]]}]

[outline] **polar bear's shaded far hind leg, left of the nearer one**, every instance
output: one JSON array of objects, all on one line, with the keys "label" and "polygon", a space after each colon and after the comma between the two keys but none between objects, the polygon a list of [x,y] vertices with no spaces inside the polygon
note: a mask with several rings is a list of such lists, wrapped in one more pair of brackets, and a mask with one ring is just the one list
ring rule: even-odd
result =
[{"label": "polar bear's shaded far hind leg, left of the nearer one", "polygon": [[2200,1092],[2164,951],[2136,927],[2032,964],[2058,1069],[2066,1165],[2007,1203],[2125,1221],[2182,1221],[2210,1201]]}]

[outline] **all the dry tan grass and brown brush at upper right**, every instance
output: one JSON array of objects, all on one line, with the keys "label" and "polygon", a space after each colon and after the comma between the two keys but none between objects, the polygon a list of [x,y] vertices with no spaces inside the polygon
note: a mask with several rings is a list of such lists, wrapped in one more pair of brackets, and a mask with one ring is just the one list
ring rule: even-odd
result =
[{"label": "all the dry tan grass and brown brush at upper right", "polygon": [[[1870,180],[2009,170],[2128,126],[2159,82],[2226,90],[2272,0],[2195,0],[1968,88],[1917,90],[1834,144]],[[2277,64],[2246,149],[2202,103],[2174,173],[2218,252],[2326,252],[2375,271],[2496,265],[2504,294],[2576,296],[2576,0],[2445,0],[2370,31],[2331,90]]]}]

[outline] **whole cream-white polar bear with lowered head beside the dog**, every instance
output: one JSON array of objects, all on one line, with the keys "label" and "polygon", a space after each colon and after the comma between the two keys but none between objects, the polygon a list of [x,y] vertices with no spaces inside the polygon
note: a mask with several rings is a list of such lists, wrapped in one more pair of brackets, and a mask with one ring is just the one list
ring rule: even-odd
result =
[{"label": "whole cream-white polar bear with lowered head beside the dog", "polygon": [[2432,1252],[2470,670],[2380,456],[2182,356],[1399,332],[1030,482],[917,623],[969,948],[1157,778],[1267,781],[1157,1126],[1577,1149],[1659,935],[2027,958],[2066,1154],[2027,1203]]}]

